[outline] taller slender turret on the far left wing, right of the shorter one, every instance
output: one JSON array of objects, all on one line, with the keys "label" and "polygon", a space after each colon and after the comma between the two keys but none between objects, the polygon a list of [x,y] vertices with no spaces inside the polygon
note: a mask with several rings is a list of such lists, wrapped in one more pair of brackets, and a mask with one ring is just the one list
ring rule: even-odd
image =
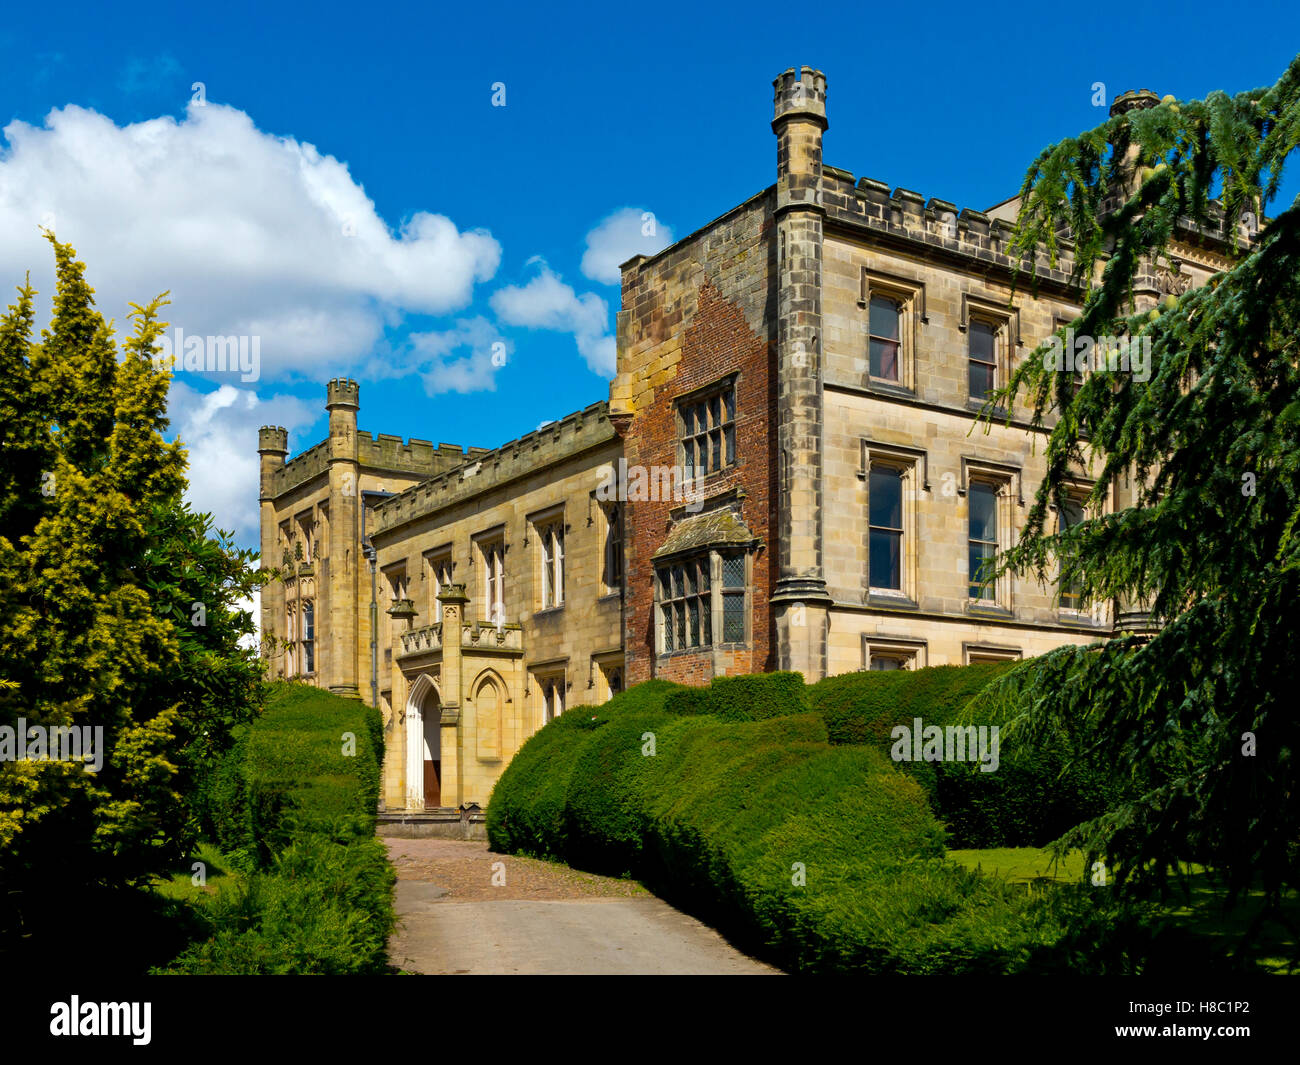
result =
[{"label": "taller slender turret on the far left wing, right of the shorter one", "polygon": [[[335,377],[325,386],[329,411],[329,584],[326,594],[326,683],[332,692],[358,696],[356,603],[359,573],[361,485],[356,445],[356,381]],[[367,593],[368,594],[368,593]]]}]

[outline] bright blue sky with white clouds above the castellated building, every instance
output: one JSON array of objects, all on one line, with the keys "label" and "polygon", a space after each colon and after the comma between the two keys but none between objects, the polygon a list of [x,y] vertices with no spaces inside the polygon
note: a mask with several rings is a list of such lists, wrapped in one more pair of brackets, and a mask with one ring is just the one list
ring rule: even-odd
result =
[{"label": "bright blue sky with white clouds above the castellated building", "polygon": [[361,382],[363,429],[481,446],[606,398],[611,264],[772,182],[788,66],[827,74],[828,164],[987,208],[1105,118],[1096,82],[1236,92],[1300,43],[1294,4],[1249,31],[1218,4],[819,10],[22,5],[3,280],[31,269],[48,307],[52,221],[120,328],[172,289],[186,335],[259,338],[257,380],[181,373],[172,411],[195,501],[251,544],[256,427],[321,438],[332,376]]}]

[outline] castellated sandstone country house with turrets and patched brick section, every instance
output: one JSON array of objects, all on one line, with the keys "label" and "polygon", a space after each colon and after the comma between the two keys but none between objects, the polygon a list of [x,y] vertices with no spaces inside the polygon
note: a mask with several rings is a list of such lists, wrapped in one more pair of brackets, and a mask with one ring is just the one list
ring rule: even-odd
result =
[{"label": "castellated sandstone country house with turrets and patched brick section", "polygon": [[[775,183],[624,264],[608,402],[463,450],[359,433],[358,385],[332,381],[328,441],[286,462],[285,430],[261,430],[269,666],[381,707],[386,809],[484,806],[549,719],[650,677],[812,681],[1143,624],[980,576],[1045,460],[1028,410],[978,414],[1079,315],[1069,243],[1013,293],[1015,199],[855,179],[823,164],[827,126],[823,74],[783,73]],[[1230,239],[1180,231],[1136,307],[1228,267]],[[1057,521],[1091,484],[1080,469]]]}]

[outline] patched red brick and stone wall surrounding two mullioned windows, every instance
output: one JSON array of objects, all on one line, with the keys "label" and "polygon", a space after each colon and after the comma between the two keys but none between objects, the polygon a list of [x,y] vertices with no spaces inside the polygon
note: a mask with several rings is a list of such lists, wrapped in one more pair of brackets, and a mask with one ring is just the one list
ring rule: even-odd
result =
[{"label": "patched red brick and stone wall surrounding two mullioned windows", "polygon": [[[718,671],[764,672],[775,668],[771,597],[775,550],[772,507],[776,501],[775,440],[776,346],[767,319],[767,278],[774,229],[759,203],[738,217],[715,224],[692,246],[675,248],[624,278],[620,316],[620,365],[636,362],[644,385],[658,380],[653,397],[637,404],[624,437],[629,466],[676,466],[677,421],[673,401],[736,371],[736,466],[705,482],[706,501],[732,489],[746,498],[741,516],[762,546],[753,558],[753,642],[748,650],[711,648],[676,653],[655,661],[654,566],[651,558],[668,536],[670,511],[681,502],[630,502],[625,541],[627,683],[653,676],[685,684],[707,684]],[[714,230],[724,228],[723,233]],[[731,290],[731,295],[727,294]],[[755,320],[758,328],[755,329]],[[640,341],[640,343],[636,343]],[[668,372],[664,351],[680,347],[680,362]],[[627,352],[627,358],[625,358]],[[663,380],[667,377],[668,380]],[[640,388],[641,385],[638,385]]]}]

